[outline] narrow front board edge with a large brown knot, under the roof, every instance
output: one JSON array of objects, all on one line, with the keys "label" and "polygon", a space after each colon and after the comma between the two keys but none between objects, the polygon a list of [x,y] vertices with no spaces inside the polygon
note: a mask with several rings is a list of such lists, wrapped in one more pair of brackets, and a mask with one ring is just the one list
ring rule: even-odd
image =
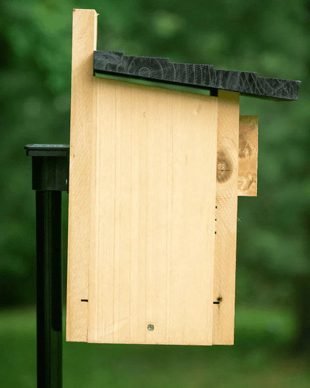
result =
[{"label": "narrow front board edge with a large brown knot, under the roof", "polygon": [[219,90],[213,344],[234,342],[239,94]]}]

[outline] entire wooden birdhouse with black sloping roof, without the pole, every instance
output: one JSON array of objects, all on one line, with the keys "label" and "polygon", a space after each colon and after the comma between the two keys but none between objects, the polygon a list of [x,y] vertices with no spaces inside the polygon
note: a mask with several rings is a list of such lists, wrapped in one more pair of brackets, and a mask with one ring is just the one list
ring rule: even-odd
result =
[{"label": "entire wooden birdhouse with black sloping roof, without the pole", "polygon": [[258,149],[239,94],[296,100],[299,81],[96,39],[96,11],[74,10],[67,340],[233,344],[237,197],[256,195]]}]

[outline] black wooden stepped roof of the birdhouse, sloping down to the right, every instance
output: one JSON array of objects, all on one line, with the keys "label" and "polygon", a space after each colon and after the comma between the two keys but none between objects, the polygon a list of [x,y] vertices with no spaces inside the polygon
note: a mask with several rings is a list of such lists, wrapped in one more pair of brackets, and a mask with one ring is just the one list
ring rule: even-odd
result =
[{"label": "black wooden stepped roof of the birdhouse, sloping down to the right", "polygon": [[94,73],[224,89],[276,100],[297,100],[300,81],[259,77],[257,73],[216,70],[212,65],[170,63],[169,58],[127,56],[121,51],[94,51]]}]

